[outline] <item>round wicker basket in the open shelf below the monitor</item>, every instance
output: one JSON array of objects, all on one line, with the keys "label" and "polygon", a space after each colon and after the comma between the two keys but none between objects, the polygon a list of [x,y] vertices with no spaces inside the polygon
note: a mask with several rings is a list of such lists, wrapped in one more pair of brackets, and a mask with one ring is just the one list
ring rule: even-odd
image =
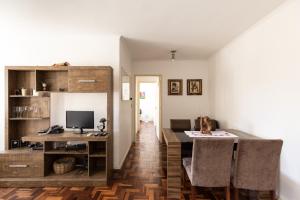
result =
[{"label": "round wicker basket in the open shelf below the monitor", "polygon": [[75,158],[74,157],[63,157],[53,163],[53,170],[55,174],[65,174],[74,169]]}]

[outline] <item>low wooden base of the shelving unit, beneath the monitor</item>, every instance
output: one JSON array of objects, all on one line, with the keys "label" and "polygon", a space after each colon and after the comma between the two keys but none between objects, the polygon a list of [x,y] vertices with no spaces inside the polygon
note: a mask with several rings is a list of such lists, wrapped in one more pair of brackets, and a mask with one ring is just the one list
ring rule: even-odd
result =
[{"label": "low wooden base of the shelving unit, beneath the monitor", "polygon": [[[45,187],[45,186],[106,186],[112,175],[112,135],[87,136],[74,132],[61,134],[31,135],[23,141],[40,142],[42,150],[16,148],[0,154],[0,187]],[[85,143],[85,149],[55,148],[55,143]],[[21,156],[21,157],[20,157]],[[53,171],[53,162],[62,157],[75,157],[75,168],[58,175]],[[78,167],[87,163],[87,169]],[[13,164],[12,164],[13,163]],[[25,178],[25,179],[22,179]]]}]

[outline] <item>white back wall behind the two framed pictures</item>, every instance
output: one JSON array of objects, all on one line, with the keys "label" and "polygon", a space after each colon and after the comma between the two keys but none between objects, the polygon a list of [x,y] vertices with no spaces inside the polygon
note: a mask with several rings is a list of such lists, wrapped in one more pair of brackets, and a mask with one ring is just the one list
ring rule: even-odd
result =
[{"label": "white back wall behind the two framed pictures", "polygon": [[[136,75],[162,75],[162,127],[170,127],[170,119],[194,119],[209,114],[208,63],[202,60],[136,61]],[[183,79],[183,95],[168,96],[168,79]],[[203,95],[187,96],[186,80],[203,79]]]}]

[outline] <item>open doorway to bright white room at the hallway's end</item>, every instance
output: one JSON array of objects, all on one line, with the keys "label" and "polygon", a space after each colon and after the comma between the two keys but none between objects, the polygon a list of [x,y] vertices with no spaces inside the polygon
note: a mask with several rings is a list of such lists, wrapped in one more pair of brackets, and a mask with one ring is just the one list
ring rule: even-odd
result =
[{"label": "open doorway to bright white room at the hallway's end", "polygon": [[[142,125],[153,125],[158,140],[162,141],[161,133],[161,76],[135,76],[135,136]],[[136,138],[136,137],[135,137]]]}]

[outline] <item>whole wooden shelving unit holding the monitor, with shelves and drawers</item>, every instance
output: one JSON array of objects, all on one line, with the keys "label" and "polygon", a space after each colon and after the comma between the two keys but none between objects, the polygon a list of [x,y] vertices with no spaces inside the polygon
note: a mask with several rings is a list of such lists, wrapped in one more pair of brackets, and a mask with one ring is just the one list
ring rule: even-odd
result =
[{"label": "whole wooden shelving unit holding the monitor, with shelves and drawers", "polygon": [[[0,187],[105,186],[112,172],[113,76],[111,67],[24,66],[6,67],[5,151],[0,153]],[[47,83],[46,91],[42,82]],[[26,88],[22,96],[17,90]],[[32,91],[39,92],[33,96]],[[65,132],[38,135],[50,126],[51,93],[107,93],[107,131],[104,137],[88,137]],[[35,109],[16,114],[16,107]],[[34,110],[34,111],[33,111]],[[43,144],[43,150],[12,148],[12,140]],[[55,142],[83,142],[86,149],[55,149]],[[53,162],[61,157],[76,158],[74,170],[63,175],[53,172]],[[17,165],[10,168],[11,164]]]}]

